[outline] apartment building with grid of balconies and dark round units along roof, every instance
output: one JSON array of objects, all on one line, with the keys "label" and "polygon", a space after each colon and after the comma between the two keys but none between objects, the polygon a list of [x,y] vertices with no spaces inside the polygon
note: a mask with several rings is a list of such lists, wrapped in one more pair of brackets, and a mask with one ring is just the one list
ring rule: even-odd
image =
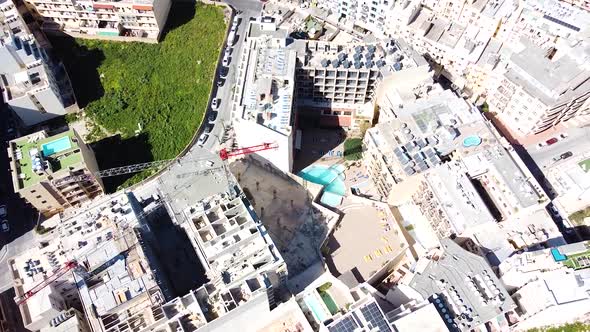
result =
[{"label": "apartment building with grid of balconies and dark round units along roof", "polygon": [[302,115],[322,126],[358,127],[372,121],[379,89],[428,77],[430,67],[403,40],[338,44],[306,41],[298,52],[296,92]]}]

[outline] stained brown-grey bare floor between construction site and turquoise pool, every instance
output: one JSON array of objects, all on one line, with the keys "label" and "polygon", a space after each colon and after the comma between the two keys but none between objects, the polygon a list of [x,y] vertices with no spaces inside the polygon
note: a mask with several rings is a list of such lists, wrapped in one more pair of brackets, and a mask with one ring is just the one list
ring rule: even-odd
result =
[{"label": "stained brown-grey bare floor between construction site and turquoise pool", "polygon": [[252,194],[251,203],[287,263],[289,274],[296,275],[319,261],[327,227],[307,190],[251,158],[233,162],[230,169],[244,191]]}]

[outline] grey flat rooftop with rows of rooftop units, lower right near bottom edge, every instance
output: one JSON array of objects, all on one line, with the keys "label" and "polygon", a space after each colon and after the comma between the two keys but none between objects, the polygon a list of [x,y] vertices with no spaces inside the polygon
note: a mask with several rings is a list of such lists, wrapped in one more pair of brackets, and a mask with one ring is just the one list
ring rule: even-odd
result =
[{"label": "grey flat rooftop with rows of rooftop units, lower right near bottom edge", "polygon": [[475,328],[513,309],[512,298],[484,258],[448,238],[442,239],[441,245],[440,251],[416,263],[410,287],[424,298],[440,299],[461,330]]}]

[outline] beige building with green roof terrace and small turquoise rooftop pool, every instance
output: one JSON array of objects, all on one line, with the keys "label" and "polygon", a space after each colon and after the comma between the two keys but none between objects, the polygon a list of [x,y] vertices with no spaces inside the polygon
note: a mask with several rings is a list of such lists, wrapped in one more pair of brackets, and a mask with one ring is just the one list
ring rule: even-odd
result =
[{"label": "beige building with green roof terrace and small turquoise rooftop pool", "polygon": [[[94,153],[74,130],[54,136],[40,131],[9,142],[15,191],[39,212],[52,215],[103,193]],[[77,181],[59,179],[89,175]]]}]

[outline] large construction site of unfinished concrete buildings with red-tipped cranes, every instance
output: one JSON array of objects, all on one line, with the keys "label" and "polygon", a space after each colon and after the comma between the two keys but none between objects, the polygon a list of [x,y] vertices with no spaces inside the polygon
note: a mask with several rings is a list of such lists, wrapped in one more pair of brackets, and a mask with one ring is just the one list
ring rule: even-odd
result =
[{"label": "large construction site of unfinished concrete buildings with red-tipped cranes", "polygon": [[282,302],[281,253],[228,156],[207,157],[173,164],[138,192],[55,216],[57,236],[9,262],[25,327],[235,330]]}]

